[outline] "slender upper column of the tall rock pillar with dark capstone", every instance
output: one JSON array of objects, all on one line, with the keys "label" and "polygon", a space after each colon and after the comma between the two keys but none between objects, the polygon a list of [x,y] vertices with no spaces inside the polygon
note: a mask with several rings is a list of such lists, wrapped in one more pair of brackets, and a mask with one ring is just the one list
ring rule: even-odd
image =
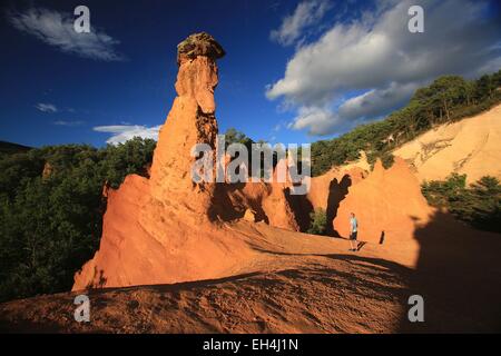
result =
[{"label": "slender upper column of the tall rock pillar with dark capstone", "polygon": [[193,34],[178,46],[177,97],[161,127],[151,165],[151,197],[168,200],[178,212],[196,212],[202,218],[208,216],[215,186],[193,182],[190,149],[196,144],[215,148],[216,59],[223,55],[207,33]]}]

